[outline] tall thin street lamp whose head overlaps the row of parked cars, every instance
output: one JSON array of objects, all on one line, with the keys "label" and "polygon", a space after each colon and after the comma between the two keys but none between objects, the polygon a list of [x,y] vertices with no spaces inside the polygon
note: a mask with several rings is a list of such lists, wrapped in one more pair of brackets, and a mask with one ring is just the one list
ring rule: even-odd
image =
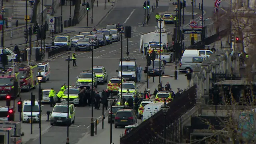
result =
[{"label": "tall thin street lamp whose head overlaps the row of parked cars", "polygon": [[94,136],[94,122],[93,122],[93,100],[94,100],[94,92],[93,92],[93,49],[96,46],[93,42],[90,44],[90,48],[92,51],[92,89],[91,89],[91,105],[92,105],[92,118],[91,118],[91,136]]}]

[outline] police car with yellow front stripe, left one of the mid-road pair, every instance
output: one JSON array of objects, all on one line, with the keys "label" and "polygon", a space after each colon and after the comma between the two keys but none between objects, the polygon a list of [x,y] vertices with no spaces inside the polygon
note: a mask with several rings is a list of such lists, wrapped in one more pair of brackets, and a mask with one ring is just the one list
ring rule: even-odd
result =
[{"label": "police car with yellow front stripe, left one of the mid-road pair", "polygon": [[92,71],[90,70],[82,71],[81,74],[76,78],[78,79],[76,81],[76,86],[90,87],[92,86],[92,83],[93,83],[93,86],[95,86],[96,88],[98,87],[96,74],[93,72],[93,82],[92,82]]}]

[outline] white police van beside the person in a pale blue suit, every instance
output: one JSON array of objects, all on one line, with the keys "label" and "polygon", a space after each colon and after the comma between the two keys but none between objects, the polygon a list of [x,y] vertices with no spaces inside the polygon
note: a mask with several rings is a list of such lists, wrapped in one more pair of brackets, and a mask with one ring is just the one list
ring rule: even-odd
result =
[{"label": "white police van beside the person in a pale blue suit", "polygon": [[118,77],[121,77],[121,70],[122,70],[122,76],[125,80],[131,80],[136,82],[136,59],[135,58],[122,58],[122,67],[121,67],[121,60],[119,62],[119,70],[116,70],[118,72]]}]

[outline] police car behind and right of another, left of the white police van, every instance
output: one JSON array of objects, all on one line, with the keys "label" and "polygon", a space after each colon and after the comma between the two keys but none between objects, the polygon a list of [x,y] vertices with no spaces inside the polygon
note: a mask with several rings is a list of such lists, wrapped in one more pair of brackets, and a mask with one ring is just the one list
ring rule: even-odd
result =
[{"label": "police car behind and right of another, left of the white police van", "polygon": [[103,66],[93,66],[93,72],[96,74],[98,84],[108,82],[108,74]]}]

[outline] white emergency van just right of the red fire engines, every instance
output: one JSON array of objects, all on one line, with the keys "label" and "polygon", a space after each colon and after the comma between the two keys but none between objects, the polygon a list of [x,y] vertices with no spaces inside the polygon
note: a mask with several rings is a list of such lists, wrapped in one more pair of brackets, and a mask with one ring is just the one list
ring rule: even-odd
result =
[{"label": "white emergency van just right of the red fire engines", "polygon": [[50,69],[49,62],[37,64],[37,69],[38,69],[38,74],[39,72],[41,72],[41,74],[44,76],[42,79],[42,82],[46,82],[46,80],[50,80],[51,69]]}]

